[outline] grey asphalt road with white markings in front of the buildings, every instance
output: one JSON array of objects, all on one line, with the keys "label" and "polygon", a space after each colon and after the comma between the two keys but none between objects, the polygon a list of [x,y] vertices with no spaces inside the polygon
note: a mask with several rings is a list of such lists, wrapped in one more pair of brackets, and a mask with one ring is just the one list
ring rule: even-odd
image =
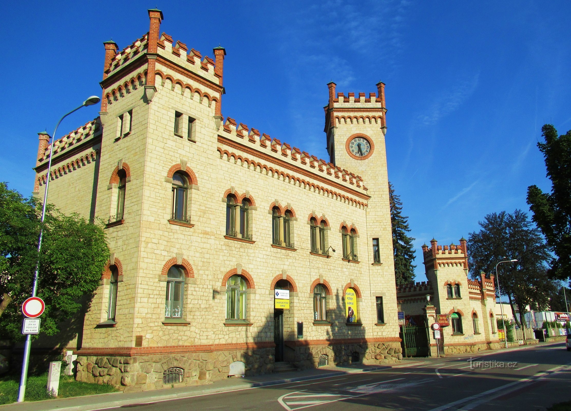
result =
[{"label": "grey asphalt road with white markings in front of the buildings", "polygon": [[[571,352],[564,344],[419,364],[182,400],[130,405],[178,410],[545,410],[571,400]],[[483,364],[477,361],[485,361]]]}]

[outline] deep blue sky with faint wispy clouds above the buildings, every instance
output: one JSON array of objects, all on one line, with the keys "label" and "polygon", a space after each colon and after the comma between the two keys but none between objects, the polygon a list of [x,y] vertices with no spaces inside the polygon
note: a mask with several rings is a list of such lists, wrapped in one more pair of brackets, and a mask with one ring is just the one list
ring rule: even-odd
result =
[{"label": "deep blue sky with faint wispy clouds above the buildings", "polygon": [[[38,2],[39,3],[39,2]],[[12,2],[0,26],[0,181],[29,195],[38,131],[100,95],[103,45],[162,31],[212,57],[226,47],[222,112],[327,158],[327,83],[385,82],[389,179],[420,245],[458,243],[490,213],[549,189],[541,126],[571,129],[571,3],[456,1]],[[67,118],[58,137],[97,115]]]}]

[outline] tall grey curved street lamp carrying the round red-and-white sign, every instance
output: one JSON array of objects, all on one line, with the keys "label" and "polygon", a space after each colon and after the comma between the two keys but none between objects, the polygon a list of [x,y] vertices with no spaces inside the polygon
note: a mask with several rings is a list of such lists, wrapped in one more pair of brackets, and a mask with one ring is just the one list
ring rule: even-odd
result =
[{"label": "tall grey curved street lamp carrying the round red-and-white sign", "polygon": [[[100,98],[97,97],[96,95],[92,95],[91,97],[87,98],[87,100],[84,101],[81,106],[77,107],[77,109],[71,110],[69,113],[65,114],[62,118],[59,119],[57,125],[55,126],[54,134],[52,134],[51,143],[50,143],[50,159],[47,163],[46,191],[43,195],[42,225],[40,226],[40,229],[39,229],[38,260],[36,261],[36,268],[34,271],[34,285],[32,287],[32,297],[36,296],[36,292],[38,289],[39,253],[42,250],[43,220],[46,217],[47,189],[50,185],[50,169],[51,169],[51,159],[53,158],[53,154],[54,154],[55,133],[58,131],[59,123],[61,123],[62,120],[64,118],[66,118],[68,115],[70,115],[71,113],[74,113],[75,111],[81,109],[81,107],[93,106],[94,104],[97,104],[99,101],[100,101]],[[26,344],[24,345],[24,359],[22,362],[22,377],[20,379],[20,389],[18,392],[18,402],[24,401],[24,397],[26,394],[26,380],[28,377],[28,363],[30,362],[30,346],[31,346],[30,337],[31,337],[31,335],[27,334]]]}]

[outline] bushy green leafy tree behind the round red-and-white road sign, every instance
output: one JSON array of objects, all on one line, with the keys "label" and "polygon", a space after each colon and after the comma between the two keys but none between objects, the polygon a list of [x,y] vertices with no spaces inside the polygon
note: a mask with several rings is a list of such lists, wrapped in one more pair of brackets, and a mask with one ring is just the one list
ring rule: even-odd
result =
[{"label": "bushy green leafy tree behind the round red-and-white road sign", "polygon": [[[0,182],[0,338],[21,338],[22,302],[31,295],[41,228],[41,203]],[[46,303],[42,332],[81,309],[99,286],[109,258],[102,227],[49,207],[39,256],[38,297]]]}]

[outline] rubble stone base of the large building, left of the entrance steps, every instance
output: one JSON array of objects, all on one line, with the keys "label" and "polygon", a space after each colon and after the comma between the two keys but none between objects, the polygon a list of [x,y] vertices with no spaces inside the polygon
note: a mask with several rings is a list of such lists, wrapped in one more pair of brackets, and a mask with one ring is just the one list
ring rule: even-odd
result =
[{"label": "rubble stone base of the large building, left of the entrance steps", "polygon": [[184,378],[175,386],[210,384],[226,378],[234,361],[246,364],[246,375],[271,373],[274,369],[274,349],[148,356],[80,355],[75,379],[110,384],[126,391],[170,388],[171,384],[163,384],[163,372],[171,367],[179,367],[184,370]]}]

